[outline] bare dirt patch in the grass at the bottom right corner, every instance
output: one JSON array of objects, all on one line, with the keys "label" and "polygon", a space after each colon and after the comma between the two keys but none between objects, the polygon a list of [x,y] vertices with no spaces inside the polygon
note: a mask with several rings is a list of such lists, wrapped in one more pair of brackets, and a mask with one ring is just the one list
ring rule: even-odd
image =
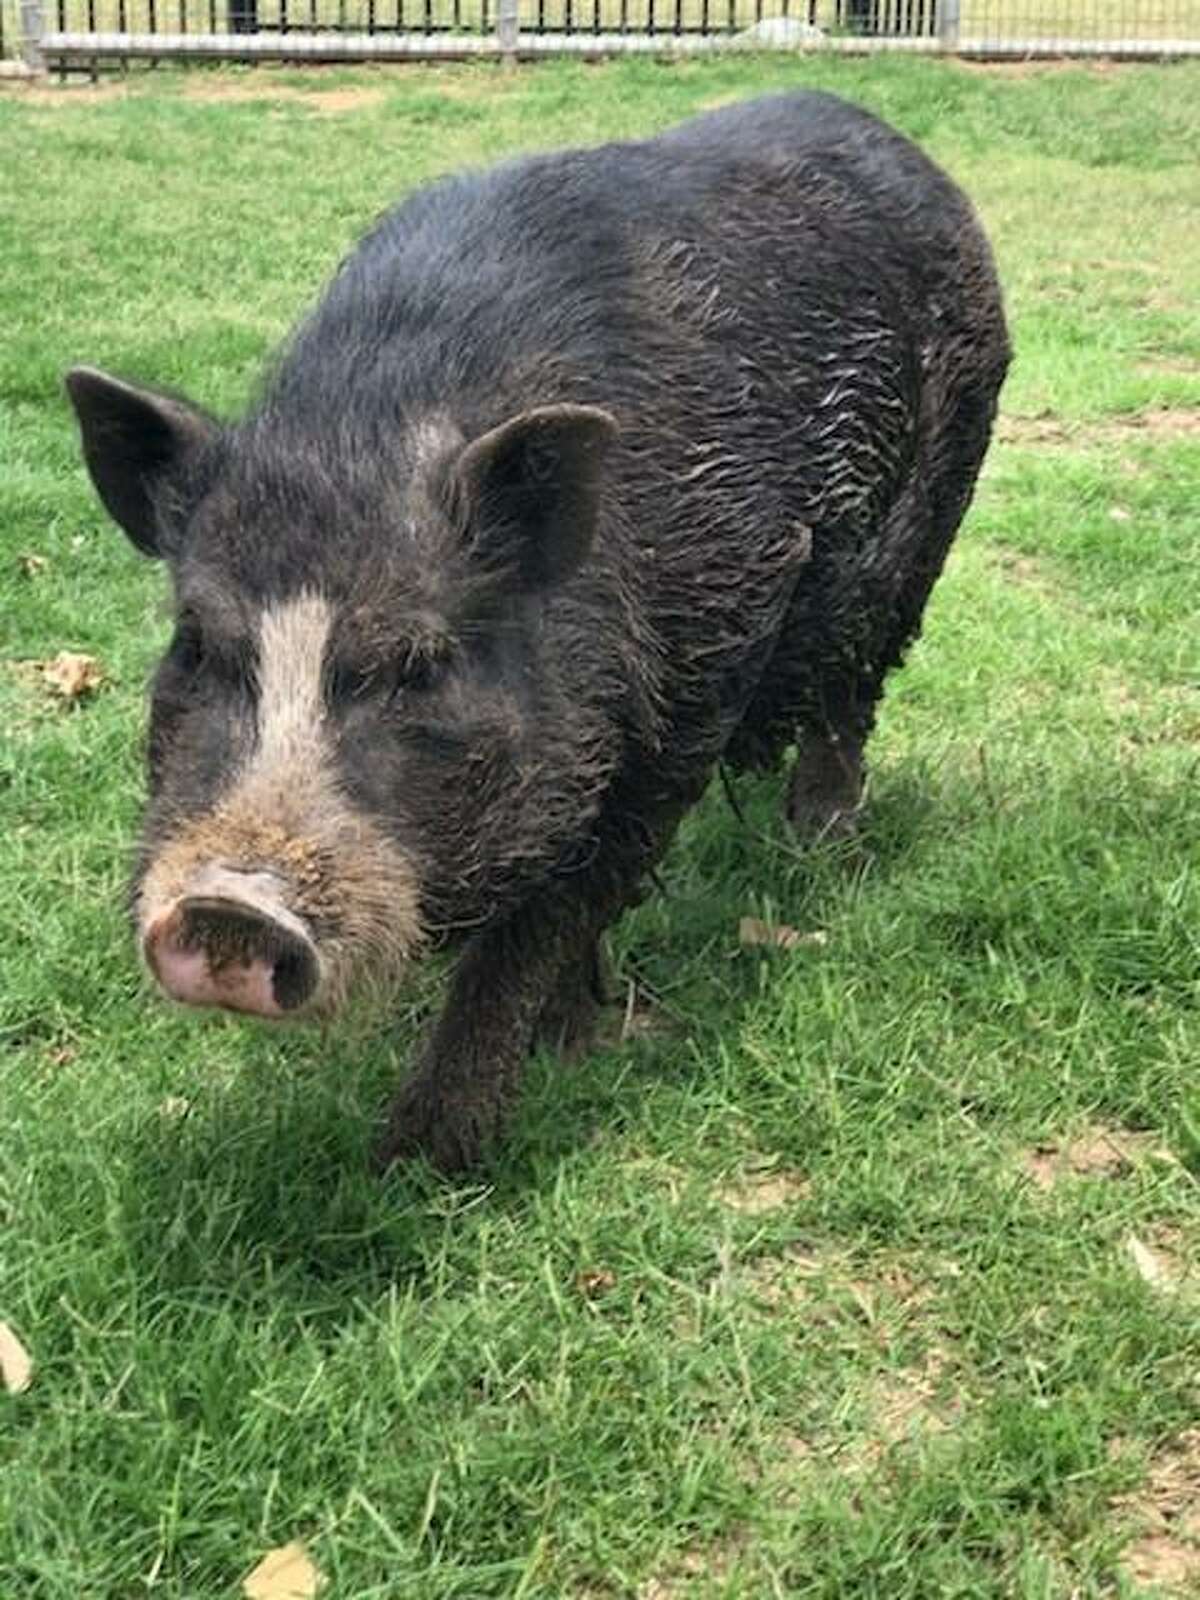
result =
[{"label": "bare dirt patch in the grass at the bottom right corner", "polygon": [[1142,1488],[1115,1504],[1141,1530],[1122,1557],[1125,1574],[1138,1584],[1194,1594],[1200,1582],[1200,1429],[1165,1445]]}]

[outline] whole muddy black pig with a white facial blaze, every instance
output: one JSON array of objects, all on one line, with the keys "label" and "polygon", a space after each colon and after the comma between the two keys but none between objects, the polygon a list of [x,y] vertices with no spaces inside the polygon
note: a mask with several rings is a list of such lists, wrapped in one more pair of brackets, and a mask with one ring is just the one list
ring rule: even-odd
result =
[{"label": "whole muddy black pig with a white facial blaze", "polygon": [[451,950],[381,1166],[469,1168],[718,763],[853,826],[1008,338],[962,192],[822,93],[384,214],[246,416],[78,366],[166,563],[136,936],[174,1000],[330,1018]]}]

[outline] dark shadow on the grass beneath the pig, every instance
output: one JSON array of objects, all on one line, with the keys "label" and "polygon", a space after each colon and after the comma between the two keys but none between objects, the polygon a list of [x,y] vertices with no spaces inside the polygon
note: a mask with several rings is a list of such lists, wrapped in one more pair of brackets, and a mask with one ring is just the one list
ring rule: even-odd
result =
[{"label": "dark shadow on the grass beneath the pig", "polygon": [[845,896],[866,861],[899,861],[926,826],[928,800],[893,789],[862,845],[802,853],[778,821],[778,782],[747,782],[734,818],[723,795],[709,795],[669,862],[667,894],[634,910],[614,941],[619,987],[658,995],[666,1026],[574,1064],[538,1056],[507,1139],[470,1182],[422,1163],[384,1179],[370,1170],[414,1027],[246,1029],[232,1085],[122,1128],[123,1237],[146,1290],[253,1296],[269,1285],[309,1309],[389,1285],[421,1293],[448,1256],[474,1254],[480,1213],[520,1219],[565,1162],[637,1123],[651,1088],[696,1080],[720,1040],[739,1035],[762,982],[755,962],[730,957],[762,885],[789,909]]}]

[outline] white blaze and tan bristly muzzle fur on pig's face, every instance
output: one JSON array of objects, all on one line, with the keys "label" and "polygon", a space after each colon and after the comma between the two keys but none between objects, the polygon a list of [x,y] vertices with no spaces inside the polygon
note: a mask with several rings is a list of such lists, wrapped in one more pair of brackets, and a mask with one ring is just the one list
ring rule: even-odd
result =
[{"label": "white blaze and tan bristly muzzle fur on pig's face", "polygon": [[138,896],[142,938],[208,869],[272,874],[317,947],[307,1011],[330,1013],[358,974],[392,976],[418,950],[411,864],[336,779],[325,706],[333,608],[310,590],[262,611],[258,739],[216,805],[163,840]]}]

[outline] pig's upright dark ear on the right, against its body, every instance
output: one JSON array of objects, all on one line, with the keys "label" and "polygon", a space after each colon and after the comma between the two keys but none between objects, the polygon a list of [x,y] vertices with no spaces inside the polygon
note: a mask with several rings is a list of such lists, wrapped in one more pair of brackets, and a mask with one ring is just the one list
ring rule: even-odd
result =
[{"label": "pig's upright dark ear on the right, against its body", "polygon": [[586,558],[616,421],[550,405],[501,422],[454,464],[472,552],[523,590],[549,589]]}]

